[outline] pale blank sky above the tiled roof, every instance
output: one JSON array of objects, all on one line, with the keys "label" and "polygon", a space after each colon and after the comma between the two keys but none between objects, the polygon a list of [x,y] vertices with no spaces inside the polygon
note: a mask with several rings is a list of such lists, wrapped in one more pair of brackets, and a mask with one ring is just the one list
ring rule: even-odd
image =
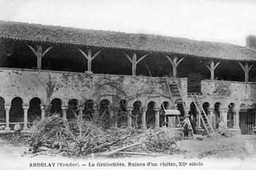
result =
[{"label": "pale blank sky above the tiled roof", "polygon": [[256,0],[0,0],[0,20],[246,45]]}]

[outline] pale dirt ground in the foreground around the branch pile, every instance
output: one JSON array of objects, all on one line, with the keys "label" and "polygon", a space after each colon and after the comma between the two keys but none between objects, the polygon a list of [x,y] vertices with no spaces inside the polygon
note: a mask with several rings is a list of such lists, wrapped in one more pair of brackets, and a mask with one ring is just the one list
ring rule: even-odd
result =
[{"label": "pale dirt ground in the foreground around the branch pile", "polygon": [[[189,169],[255,169],[256,168],[256,135],[240,135],[232,138],[205,138],[204,140],[180,140],[178,149],[185,151],[176,155],[158,155],[148,157],[133,155],[126,158],[66,158],[61,155],[36,155],[25,154],[28,146],[22,144],[13,145],[0,137],[0,169],[39,169],[31,167],[31,163],[37,162],[78,162],[80,167],[65,167],[65,169],[106,169],[105,167],[88,167],[89,162],[155,162],[160,166],[161,162],[203,162],[203,166],[189,167]],[[85,167],[81,164],[87,164]],[[151,166],[146,169],[155,169]],[[214,165],[214,166],[212,166]],[[110,168],[110,169],[115,169]],[[129,169],[126,167],[125,169]],[[182,169],[185,167],[178,167]],[[60,167],[40,167],[40,169],[62,169]],[[64,168],[63,168],[64,169]],[[107,168],[108,169],[108,168]],[[133,169],[141,169],[135,164]],[[170,169],[170,167],[161,167]]]}]

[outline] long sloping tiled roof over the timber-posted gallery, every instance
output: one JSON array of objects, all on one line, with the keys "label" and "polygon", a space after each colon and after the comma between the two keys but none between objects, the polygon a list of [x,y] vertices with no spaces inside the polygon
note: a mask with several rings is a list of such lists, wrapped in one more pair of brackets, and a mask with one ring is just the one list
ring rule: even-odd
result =
[{"label": "long sloping tiled roof over the timber-posted gallery", "polygon": [[256,61],[255,51],[232,44],[161,35],[45,26],[35,23],[0,21],[0,37],[103,48],[143,50],[145,52],[176,53],[212,59]]}]

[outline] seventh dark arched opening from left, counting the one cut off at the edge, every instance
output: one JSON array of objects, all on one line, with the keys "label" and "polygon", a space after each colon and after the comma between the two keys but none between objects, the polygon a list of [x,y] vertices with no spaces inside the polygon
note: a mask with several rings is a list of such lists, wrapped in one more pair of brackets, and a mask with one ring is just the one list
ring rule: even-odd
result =
[{"label": "seventh dark arched opening from left, counting the one cut off at the edge", "polygon": [[110,101],[101,100],[99,109],[99,117],[101,118],[101,124],[104,128],[110,128]]}]

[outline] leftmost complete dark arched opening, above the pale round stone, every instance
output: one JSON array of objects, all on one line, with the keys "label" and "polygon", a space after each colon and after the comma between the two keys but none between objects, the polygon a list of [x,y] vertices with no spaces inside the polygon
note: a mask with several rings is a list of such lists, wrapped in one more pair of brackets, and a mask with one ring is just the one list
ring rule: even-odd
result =
[{"label": "leftmost complete dark arched opening, above the pale round stone", "polygon": [[22,108],[23,100],[21,97],[15,97],[12,99],[10,106],[10,122],[23,122],[24,110]]}]

